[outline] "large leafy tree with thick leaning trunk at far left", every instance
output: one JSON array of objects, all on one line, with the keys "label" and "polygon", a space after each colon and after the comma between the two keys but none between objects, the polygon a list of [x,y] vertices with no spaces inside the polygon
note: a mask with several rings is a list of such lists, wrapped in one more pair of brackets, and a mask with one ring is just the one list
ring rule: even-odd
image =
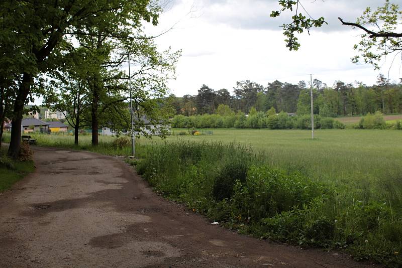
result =
[{"label": "large leafy tree with thick leaning trunk at far left", "polygon": [[[149,0],[35,0],[2,2],[0,9],[0,46],[7,53],[2,62],[13,66],[18,89],[13,100],[12,134],[9,156],[17,158],[21,145],[21,120],[24,104],[41,74],[61,68],[62,48],[71,46],[71,36],[85,32],[102,21],[104,28],[117,29],[120,13],[131,14],[127,24],[138,26],[142,20],[157,23],[158,9]],[[113,17],[113,16],[114,17]],[[116,18],[116,19],[113,19]],[[126,19],[126,18],[124,18]],[[116,33],[110,32],[108,35]]]}]

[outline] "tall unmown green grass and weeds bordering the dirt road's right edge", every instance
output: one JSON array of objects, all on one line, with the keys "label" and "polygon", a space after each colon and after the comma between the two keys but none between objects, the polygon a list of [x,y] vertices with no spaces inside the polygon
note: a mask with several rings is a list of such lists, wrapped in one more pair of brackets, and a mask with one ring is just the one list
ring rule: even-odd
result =
[{"label": "tall unmown green grass and weeds bordering the dirt road's right edge", "polygon": [[274,169],[269,154],[248,146],[183,140],[150,147],[137,171],[165,196],[240,232],[402,264],[396,173],[376,192],[357,182],[336,187]]}]

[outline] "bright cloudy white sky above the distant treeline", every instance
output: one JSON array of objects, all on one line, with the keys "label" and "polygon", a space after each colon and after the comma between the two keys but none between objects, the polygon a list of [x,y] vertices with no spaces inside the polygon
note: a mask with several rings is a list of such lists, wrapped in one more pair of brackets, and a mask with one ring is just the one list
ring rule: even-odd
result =
[{"label": "bright cloudy white sky above the distant treeline", "polygon": [[[397,4],[398,1],[391,0]],[[176,80],[169,81],[176,96],[197,94],[206,84],[210,88],[233,91],[236,81],[251,80],[266,86],[274,80],[298,83],[319,79],[328,86],[334,81],[376,83],[379,73],[391,81],[402,77],[401,62],[392,58],[381,64],[356,65],[350,60],[357,55],[361,30],[343,26],[355,22],[366,7],[382,6],[384,0],[302,0],[313,18],[325,17],[328,25],[299,36],[301,47],[289,51],[279,27],[289,22],[290,13],[279,18],[269,14],[278,10],[277,0],[170,0],[159,18],[158,26],[145,26],[160,50],[171,47],[182,50],[176,67]]]}]

